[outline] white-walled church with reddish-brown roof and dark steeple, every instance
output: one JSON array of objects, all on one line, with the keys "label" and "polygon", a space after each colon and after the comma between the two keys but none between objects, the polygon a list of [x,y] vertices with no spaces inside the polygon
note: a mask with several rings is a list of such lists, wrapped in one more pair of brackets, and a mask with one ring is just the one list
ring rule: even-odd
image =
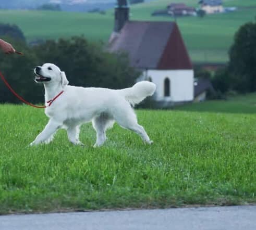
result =
[{"label": "white-walled church with reddish-brown roof and dark steeple", "polygon": [[127,2],[119,1],[108,50],[128,54],[140,80],[156,84],[154,99],[162,107],[193,101],[194,72],[175,22],[130,21]]}]

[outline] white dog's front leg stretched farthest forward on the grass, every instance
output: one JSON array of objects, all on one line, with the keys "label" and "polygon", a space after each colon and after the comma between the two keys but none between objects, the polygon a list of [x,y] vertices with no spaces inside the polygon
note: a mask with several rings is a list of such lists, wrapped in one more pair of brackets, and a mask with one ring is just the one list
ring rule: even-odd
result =
[{"label": "white dog's front leg stretched farthest forward on the grass", "polygon": [[44,142],[47,142],[51,136],[54,135],[54,133],[59,129],[59,127],[62,126],[62,123],[57,122],[53,119],[50,119],[48,124],[46,124],[44,130],[34,139],[32,143],[30,143],[29,146],[32,145],[38,145]]}]

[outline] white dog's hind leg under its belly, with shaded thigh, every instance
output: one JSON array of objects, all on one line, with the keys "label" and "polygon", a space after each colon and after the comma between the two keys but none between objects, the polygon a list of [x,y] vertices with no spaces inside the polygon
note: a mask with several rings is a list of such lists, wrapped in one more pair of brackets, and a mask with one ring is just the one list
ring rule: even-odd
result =
[{"label": "white dog's hind leg under its belly, with shaded thigh", "polygon": [[109,118],[108,114],[102,113],[99,117],[95,117],[92,119],[92,126],[97,133],[96,143],[94,147],[101,146],[104,144],[106,137],[106,130],[109,127],[112,127],[114,121]]}]

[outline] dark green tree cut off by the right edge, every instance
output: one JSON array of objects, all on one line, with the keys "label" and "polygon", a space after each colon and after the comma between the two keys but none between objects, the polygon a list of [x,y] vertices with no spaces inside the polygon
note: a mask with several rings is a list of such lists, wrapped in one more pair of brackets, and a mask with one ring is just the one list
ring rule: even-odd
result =
[{"label": "dark green tree cut off by the right edge", "polygon": [[229,50],[229,70],[234,90],[256,91],[256,22],[242,25]]}]

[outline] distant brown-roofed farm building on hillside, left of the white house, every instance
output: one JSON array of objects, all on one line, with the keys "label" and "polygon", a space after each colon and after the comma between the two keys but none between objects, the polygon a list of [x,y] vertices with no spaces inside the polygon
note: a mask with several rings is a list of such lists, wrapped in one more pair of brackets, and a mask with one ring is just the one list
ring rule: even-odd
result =
[{"label": "distant brown-roofed farm building on hillside, left of the white house", "polygon": [[172,16],[196,16],[196,9],[184,3],[172,3],[167,6],[168,14]]}]

